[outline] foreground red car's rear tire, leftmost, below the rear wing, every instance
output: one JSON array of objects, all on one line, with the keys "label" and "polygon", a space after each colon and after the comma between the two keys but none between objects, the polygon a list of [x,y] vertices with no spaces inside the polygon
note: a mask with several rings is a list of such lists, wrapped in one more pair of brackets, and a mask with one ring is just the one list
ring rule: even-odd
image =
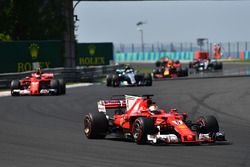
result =
[{"label": "foreground red car's rear tire, leftmost, below the rear wing", "polygon": [[84,118],[83,131],[88,139],[103,139],[108,131],[108,120],[101,112],[89,113]]}]

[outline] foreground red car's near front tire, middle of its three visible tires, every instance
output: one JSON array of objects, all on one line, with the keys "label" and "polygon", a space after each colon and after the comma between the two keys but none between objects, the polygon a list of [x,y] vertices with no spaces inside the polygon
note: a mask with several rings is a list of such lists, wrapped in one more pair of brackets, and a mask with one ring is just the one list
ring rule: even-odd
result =
[{"label": "foreground red car's near front tire, middle of its three visible tires", "polygon": [[132,127],[132,135],[136,144],[146,144],[147,135],[157,133],[154,120],[146,117],[137,118]]}]

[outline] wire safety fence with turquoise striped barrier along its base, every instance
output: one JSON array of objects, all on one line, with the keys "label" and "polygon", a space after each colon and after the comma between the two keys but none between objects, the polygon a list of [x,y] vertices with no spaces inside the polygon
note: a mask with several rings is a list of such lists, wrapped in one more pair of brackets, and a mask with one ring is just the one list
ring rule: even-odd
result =
[{"label": "wire safety fence with turquoise striped barrier along its base", "polygon": [[[221,47],[222,59],[250,59],[250,42],[208,42],[203,45],[191,42],[179,43],[144,43],[142,44],[114,44],[115,61],[155,61],[160,57],[168,56],[172,59],[190,60],[194,52],[205,51],[213,56],[214,44]],[[242,53],[244,52],[244,56]]]}]

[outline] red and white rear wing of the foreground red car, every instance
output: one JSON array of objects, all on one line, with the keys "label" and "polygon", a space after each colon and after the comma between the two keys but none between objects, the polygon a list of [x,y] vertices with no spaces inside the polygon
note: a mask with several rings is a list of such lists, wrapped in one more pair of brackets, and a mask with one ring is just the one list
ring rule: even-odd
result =
[{"label": "red and white rear wing of the foreground red car", "polygon": [[126,108],[125,99],[122,100],[100,100],[97,102],[98,111],[106,113],[107,109]]}]

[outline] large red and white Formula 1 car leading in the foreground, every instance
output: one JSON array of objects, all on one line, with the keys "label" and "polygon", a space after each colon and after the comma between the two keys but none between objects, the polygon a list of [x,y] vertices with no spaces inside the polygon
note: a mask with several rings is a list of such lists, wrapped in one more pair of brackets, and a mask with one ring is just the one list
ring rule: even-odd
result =
[{"label": "large red and white Formula 1 car leading in the foreground", "polygon": [[[99,112],[84,118],[87,138],[105,138],[108,134],[145,143],[213,143],[225,141],[214,116],[200,117],[194,122],[176,109],[158,109],[152,95],[98,101]],[[114,114],[110,112],[114,110]]]}]

